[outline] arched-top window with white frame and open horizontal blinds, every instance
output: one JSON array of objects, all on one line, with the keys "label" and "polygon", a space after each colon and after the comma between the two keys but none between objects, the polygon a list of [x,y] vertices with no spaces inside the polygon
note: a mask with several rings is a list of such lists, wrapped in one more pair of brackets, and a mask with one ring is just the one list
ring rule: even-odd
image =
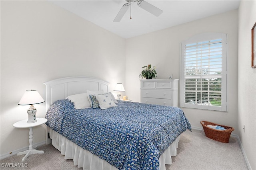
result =
[{"label": "arched-top window with white frame and open horizontal blinds", "polygon": [[181,47],[181,107],[227,111],[227,35],[203,33]]}]

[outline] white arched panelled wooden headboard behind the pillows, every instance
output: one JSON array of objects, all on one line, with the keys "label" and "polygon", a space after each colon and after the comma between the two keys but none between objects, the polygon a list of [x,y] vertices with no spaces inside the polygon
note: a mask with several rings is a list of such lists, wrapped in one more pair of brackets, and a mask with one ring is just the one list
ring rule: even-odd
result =
[{"label": "white arched panelled wooden headboard behind the pillows", "polygon": [[87,90],[108,92],[108,82],[93,77],[76,76],[58,78],[46,85],[46,111],[56,100],[65,99],[73,94],[87,93]]}]

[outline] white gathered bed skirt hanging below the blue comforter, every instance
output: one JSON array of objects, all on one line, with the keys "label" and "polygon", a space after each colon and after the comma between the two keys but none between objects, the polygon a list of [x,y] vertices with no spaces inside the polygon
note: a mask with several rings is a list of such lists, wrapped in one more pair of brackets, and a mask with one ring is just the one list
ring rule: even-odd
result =
[{"label": "white gathered bed skirt hanging below the blue comforter", "polygon": [[[61,154],[65,155],[64,158],[72,159],[74,165],[78,168],[83,168],[84,170],[118,170],[106,160],[100,159],[88,150],[82,149],[52,129],[50,129],[50,138],[52,139],[52,145],[58,149]],[[160,170],[165,170],[165,164],[172,164],[171,156],[176,156],[179,140],[180,137],[178,137],[160,156]]]}]

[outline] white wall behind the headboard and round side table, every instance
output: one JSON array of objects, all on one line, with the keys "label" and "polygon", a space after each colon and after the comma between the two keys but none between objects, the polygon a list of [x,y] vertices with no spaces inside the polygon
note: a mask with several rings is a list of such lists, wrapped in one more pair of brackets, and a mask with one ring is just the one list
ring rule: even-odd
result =
[{"label": "white wall behind the headboard and round side table", "polygon": [[[114,62],[113,62],[114,61]],[[94,76],[125,82],[125,40],[47,1],[1,1],[1,155],[28,147],[29,106],[18,106],[25,90],[67,76]],[[125,86],[125,84],[124,84]],[[46,105],[35,105],[44,117]],[[44,125],[34,128],[34,143],[45,141]]]}]

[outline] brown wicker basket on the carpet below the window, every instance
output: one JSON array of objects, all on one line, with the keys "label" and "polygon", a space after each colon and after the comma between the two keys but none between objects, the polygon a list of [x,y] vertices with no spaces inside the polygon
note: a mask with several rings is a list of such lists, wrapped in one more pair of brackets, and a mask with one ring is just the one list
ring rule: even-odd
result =
[{"label": "brown wicker basket on the carpet below the window", "polygon": [[228,143],[231,132],[235,130],[233,127],[219,125],[226,129],[221,131],[221,130],[212,129],[207,126],[207,125],[218,125],[216,123],[212,123],[208,121],[200,121],[200,123],[204,128],[204,133],[206,137],[213,139],[215,141],[223,142],[223,143]]}]

